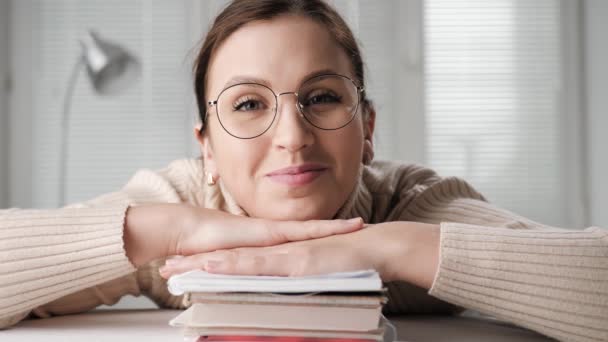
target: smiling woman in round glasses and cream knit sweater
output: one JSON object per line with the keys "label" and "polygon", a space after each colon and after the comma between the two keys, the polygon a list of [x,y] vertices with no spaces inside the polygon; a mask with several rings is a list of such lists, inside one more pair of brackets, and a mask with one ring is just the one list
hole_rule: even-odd
{"label": "smiling woman in round glasses and cream knit sweater", "polygon": [[0,212],[3,327],[126,294],[181,308],[164,278],[190,269],[375,268],[389,312],[471,308],[559,339],[608,339],[608,231],[544,226],[462,180],[372,162],[359,48],[323,2],[232,2],[194,76],[200,160],[139,171],[84,204]]}

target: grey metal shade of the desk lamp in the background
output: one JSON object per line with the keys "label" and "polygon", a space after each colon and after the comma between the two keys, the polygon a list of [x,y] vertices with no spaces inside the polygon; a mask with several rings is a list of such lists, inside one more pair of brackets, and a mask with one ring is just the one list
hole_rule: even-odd
{"label": "grey metal shade of the desk lamp in the background", "polygon": [[89,31],[80,44],[87,74],[98,93],[120,93],[139,76],[139,63],[120,45],[94,31]]}

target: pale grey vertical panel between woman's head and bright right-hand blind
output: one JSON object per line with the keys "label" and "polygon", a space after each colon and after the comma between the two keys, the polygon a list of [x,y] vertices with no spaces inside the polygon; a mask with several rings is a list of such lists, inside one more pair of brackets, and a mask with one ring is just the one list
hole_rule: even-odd
{"label": "pale grey vertical panel between woman's head and bright right-hand blind", "polygon": [[423,162],[421,0],[333,0],[365,63],[376,158]]}

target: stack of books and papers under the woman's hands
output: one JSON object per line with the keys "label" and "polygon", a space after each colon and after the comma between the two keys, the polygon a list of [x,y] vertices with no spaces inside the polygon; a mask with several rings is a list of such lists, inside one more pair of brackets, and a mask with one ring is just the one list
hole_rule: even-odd
{"label": "stack of books and papers under the woman's hands", "polygon": [[307,277],[192,271],[169,279],[189,309],[170,324],[187,341],[382,341],[386,303],[375,271]]}

